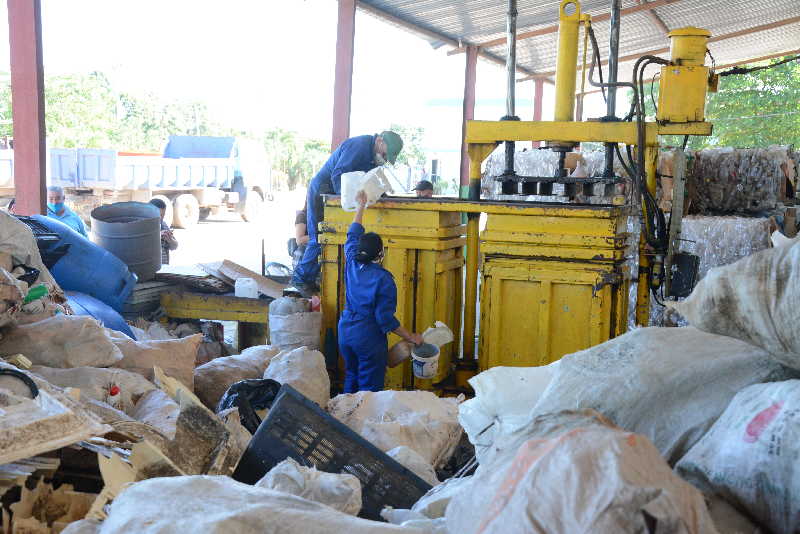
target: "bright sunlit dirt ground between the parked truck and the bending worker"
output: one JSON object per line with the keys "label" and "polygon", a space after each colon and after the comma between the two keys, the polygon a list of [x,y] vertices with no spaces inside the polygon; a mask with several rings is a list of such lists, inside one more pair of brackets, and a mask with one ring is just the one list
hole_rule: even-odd
{"label": "bright sunlit dirt ground between the parked truck and the bending worker", "polygon": [[261,272],[261,240],[266,261],[291,267],[286,242],[294,236],[295,212],[305,199],[305,189],[278,192],[266,202],[259,224],[246,223],[235,213],[211,215],[188,230],[176,229],[178,249],[170,253],[171,266],[189,266],[228,259]]}

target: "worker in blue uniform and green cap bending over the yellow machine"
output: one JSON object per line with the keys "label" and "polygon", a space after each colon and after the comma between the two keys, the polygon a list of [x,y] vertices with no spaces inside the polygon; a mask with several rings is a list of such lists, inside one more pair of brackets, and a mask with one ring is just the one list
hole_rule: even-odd
{"label": "worker in blue uniform and green cap bending over the yellow machine", "polygon": [[306,196],[308,244],[292,279],[292,283],[301,293],[307,295],[319,290],[317,258],[321,248],[317,241],[317,223],[322,220],[322,195],[340,194],[342,174],[346,172],[367,172],[387,161],[394,164],[402,149],[403,140],[395,132],[388,130],[376,135],[351,137],[334,150],[322,169],[311,180]]}

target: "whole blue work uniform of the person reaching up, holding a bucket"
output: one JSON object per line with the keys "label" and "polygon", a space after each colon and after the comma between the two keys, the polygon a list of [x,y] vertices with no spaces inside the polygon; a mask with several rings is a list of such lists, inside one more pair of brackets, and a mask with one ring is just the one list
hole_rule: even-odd
{"label": "whole blue work uniform of the person reaching up, holding a bucket", "polygon": [[356,261],[362,235],[364,227],[354,222],[344,244],[345,308],[339,319],[339,353],[345,361],[345,393],[383,389],[389,356],[386,335],[400,326],[394,316],[397,286],[392,274],[377,263]]}

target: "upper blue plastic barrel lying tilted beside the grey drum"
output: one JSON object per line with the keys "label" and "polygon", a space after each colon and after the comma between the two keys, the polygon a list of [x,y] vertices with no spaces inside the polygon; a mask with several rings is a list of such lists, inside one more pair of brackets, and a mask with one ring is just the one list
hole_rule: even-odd
{"label": "upper blue plastic barrel lying tilted beside the grey drum", "polygon": [[61,237],[52,248],[69,245],[66,255],[50,269],[61,289],[85,293],[122,312],[136,285],[136,275],[128,266],[61,221],[44,215],[34,215],[33,218]]}

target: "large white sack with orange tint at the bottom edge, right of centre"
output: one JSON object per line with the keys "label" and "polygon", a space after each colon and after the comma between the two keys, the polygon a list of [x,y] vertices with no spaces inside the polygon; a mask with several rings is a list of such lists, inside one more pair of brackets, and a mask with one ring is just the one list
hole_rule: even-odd
{"label": "large white sack with orange tint at the bottom edge, right of centre", "polygon": [[650,440],[601,424],[528,439],[481,466],[446,518],[448,532],[459,534],[717,532],[702,494]]}

